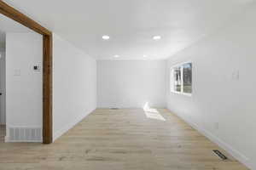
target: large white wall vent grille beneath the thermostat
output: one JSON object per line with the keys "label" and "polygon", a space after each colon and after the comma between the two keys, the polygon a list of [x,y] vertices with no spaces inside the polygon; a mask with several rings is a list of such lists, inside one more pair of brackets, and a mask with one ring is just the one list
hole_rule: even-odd
{"label": "large white wall vent grille beneath the thermostat", "polygon": [[41,127],[9,127],[9,142],[42,142]]}

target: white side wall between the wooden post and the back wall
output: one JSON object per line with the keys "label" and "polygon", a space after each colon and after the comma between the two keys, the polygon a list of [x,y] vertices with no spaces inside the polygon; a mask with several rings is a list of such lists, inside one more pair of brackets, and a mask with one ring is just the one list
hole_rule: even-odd
{"label": "white side wall between the wooden post and the back wall", "polygon": [[96,109],[96,60],[54,34],[54,139]]}

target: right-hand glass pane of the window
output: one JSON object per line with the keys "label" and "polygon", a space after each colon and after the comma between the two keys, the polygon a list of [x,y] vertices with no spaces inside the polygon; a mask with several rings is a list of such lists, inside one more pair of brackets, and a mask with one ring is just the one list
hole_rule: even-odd
{"label": "right-hand glass pane of the window", "polygon": [[192,93],[192,63],[183,65],[183,93]]}

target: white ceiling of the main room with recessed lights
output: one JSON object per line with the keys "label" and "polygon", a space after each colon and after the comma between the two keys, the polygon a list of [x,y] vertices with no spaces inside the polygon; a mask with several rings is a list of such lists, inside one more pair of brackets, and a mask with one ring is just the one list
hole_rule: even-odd
{"label": "white ceiling of the main room with recessed lights", "polygon": [[[96,59],[166,59],[253,0],[5,0]],[[102,41],[102,35],[109,35]],[[152,40],[160,35],[160,41]]]}

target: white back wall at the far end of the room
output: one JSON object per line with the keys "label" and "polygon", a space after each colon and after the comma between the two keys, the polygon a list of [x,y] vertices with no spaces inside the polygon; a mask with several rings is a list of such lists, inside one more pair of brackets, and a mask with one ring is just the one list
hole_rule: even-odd
{"label": "white back wall at the far end of the room", "polygon": [[98,60],[97,106],[166,107],[165,60]]}

